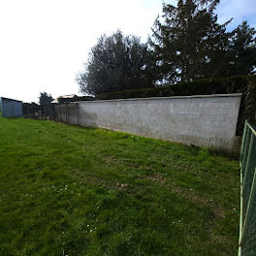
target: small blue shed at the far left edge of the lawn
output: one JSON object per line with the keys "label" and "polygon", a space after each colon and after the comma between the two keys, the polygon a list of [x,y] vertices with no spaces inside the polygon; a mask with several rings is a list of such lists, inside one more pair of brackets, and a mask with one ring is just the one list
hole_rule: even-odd
{"label": "small blue shed at the far left edge of the lawn", "polygon": [[1,97],[0,111],[4,117],[21,117],[23,115],[22,102]]}

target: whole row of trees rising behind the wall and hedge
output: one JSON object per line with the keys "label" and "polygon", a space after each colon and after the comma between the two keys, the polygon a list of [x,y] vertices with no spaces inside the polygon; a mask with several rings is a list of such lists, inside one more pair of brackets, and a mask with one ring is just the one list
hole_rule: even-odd
{"label": "whole row of trees rising behind the wall and hedge", "polygon": [[120,30],[102,35],[76,78],[80,91],[99,93],[180,81],[255,74],[256,30],[243,21],[233,31],[219,24],[219,0],[163,4],[147,43]]}

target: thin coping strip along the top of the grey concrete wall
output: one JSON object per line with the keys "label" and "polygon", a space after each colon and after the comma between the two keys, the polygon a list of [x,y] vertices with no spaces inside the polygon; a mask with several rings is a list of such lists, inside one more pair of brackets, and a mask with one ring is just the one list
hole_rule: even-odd
{"label": "thin coping strip along the top of the grey concrete wall", "polygon": [[225,97],[239,97],[239,98],[241,98],[241,95],[242,95],[242,93],[229,93],[229,94],[209,94],[209,95],[192,95],[192,96],[130,98],[130,99],[113,99],[113,100],[98,100],[98,101],[78,101],[78,102],[70,102],[69,104],[77,104],[77,103],[101,103],[101,102],[121,102],[121,101],[148,101],[148,100],[195,99],[195,98],[225,98]]}

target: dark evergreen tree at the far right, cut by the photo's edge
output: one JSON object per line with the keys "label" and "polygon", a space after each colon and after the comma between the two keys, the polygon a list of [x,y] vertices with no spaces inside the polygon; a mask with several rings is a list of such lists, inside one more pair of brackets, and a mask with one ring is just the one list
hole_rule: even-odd
{"label": "dark evergreen tree at the far right, cut by the photo's edge", "polygon": [[243,21],[232,33],[230,76],[255,74],[256,30]]}

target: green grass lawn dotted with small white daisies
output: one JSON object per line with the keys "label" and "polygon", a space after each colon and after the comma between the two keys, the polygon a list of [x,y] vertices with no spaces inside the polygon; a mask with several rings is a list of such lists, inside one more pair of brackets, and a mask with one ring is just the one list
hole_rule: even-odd
{"label": "green grass lawn dotted with small white daisies", "polygon": [[0,255],[236,255],[240,166],[206,148],[0,117]]}

